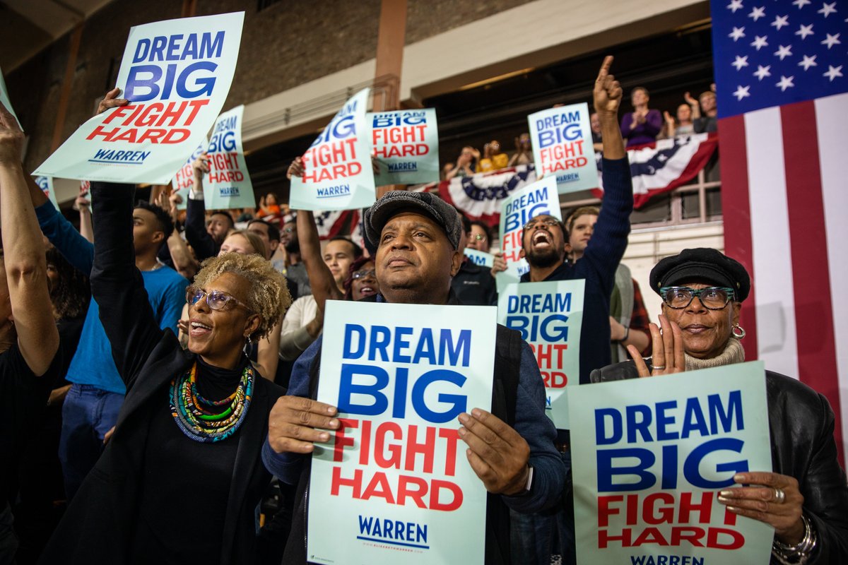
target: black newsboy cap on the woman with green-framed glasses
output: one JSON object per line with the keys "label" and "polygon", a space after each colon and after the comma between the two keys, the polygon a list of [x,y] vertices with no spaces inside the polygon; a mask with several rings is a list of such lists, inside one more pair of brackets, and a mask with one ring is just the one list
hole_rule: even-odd
{"label": "black newsboy cap on the woman with green-framed glasses", "polygon": [[657,294],[663,286],[694,280],[734,289],[736,302],[744,301],[750,292],[750,277],[745,267],[708,247],[683,249],[679,255],[664,258],[650,269],[650,287]]}

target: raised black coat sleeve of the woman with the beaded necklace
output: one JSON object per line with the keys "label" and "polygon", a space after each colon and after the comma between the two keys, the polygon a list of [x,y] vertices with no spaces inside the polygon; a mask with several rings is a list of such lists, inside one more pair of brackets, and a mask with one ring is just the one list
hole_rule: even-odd
{"label": "raised black coat sleeve of the woman with the beaded necklace", "polygon": [[127,388],[162,337],[135,263],[134,191],[132,185],[92,182],[92,203],[98,219],[94,223],[92,297],[100,307],[100,322]]}

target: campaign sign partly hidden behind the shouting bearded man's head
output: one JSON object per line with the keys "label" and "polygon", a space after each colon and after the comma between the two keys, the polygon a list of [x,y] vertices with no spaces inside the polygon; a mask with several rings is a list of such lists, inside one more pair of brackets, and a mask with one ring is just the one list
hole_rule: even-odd
{"label": "campaign sign partly hidden behind the shouting bearded man's head", "polygon": [[498,292],[503,291],[506,285],[518,282],[522,274],[530,270],[530,265],[521,256],[524,224],[543,213],[562,219],[560,197],[553,176],[514,191],[501,202],[500,250],[504,253],[506,270],[495,274]]}

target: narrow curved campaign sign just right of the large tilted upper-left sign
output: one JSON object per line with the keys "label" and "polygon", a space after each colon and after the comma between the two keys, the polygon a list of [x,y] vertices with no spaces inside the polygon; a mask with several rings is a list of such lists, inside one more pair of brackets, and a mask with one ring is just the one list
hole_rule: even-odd
{"label": "narrow curved campaign sign just right of the large tilted upper-left sign", "polygon": [[204,176],[204,196],[208,187],[210,198],[206,207],[210,210],[256,206],[254,185],[242,148],[243,114],[244,106],[220,114],[209,136],[209,173]]}

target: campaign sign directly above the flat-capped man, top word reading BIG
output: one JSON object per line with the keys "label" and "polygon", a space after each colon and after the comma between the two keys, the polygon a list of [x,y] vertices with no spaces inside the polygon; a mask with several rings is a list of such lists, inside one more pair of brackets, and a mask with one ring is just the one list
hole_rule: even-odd
{"label": "campaign sign directly above the flat-capped man, top word reading BIG", "polygon": [[397,110],[368,114],[371,143],[380,174],[377,186],[414,185],[439,180],[436,110]]}

